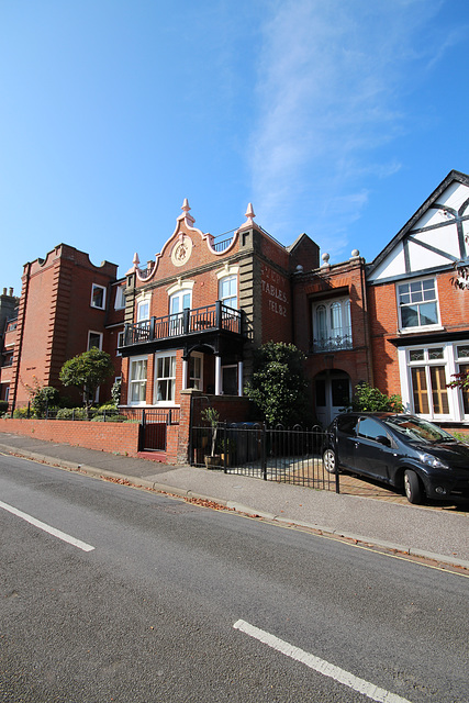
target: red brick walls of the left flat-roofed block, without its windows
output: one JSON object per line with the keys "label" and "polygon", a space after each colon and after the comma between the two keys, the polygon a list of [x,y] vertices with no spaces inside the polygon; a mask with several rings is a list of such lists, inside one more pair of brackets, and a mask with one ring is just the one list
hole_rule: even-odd
{"label": "red brick walls of the left flat-roofed block, without its windows", "polygon": [[[49,252],[44,260],[37,259],[24,267],[15,348],[19,367],[13,367],[12,383],[16,387],[16,406],[27,404],[26,386],[33,386],[35,379],[70,394],[60,386],[58,375],[67,359],[87,350],[89,331],[103,334],[102,348],[111,354],[115,376],[120,375],[116,342],[109,338],[104,327],[107,311],[91,306],[92,283],[102,286],[108,295],[109,283],[115,276],[114,264],[104,261],[94,267],[88,254],[64,244]],[[101,401],[109,397],[111,384],[112,381],[102,388]],[[77,392],[75,398],[79,398]]]}

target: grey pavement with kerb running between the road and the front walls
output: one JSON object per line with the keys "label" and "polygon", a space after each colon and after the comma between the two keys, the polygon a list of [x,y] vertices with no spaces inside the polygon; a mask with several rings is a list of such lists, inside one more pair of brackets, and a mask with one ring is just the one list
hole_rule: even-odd
{"label": "grey pavement with kerb running between the road and the front walls", "polygon": [[11,433],[0,433],[0,453],[469,569],[469,503],[411,505],[384,487],[349,476],[340,477],[336,494]]}

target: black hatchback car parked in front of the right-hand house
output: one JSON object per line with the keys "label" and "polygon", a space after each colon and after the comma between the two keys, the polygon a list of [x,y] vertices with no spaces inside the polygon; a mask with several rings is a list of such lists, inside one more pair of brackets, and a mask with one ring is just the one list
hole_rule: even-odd
{"label": "black hatchback car parked in front of the right-hand house", "polygon": [[337,415],[323,462],[330,473],[343,469],[403,489],[411,503],[469,498],[469,446],[415,415]]}

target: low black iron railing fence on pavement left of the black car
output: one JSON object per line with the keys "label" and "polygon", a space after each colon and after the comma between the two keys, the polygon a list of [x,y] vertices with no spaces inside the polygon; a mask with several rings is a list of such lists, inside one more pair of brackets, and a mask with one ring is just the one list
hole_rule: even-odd
{"label": "low black iron railing fence on pavement left of the black car", "polygon": [[217,423],[193,426],[190,464],[294,486],[339,492],[339,475],[322,460],[324,429],[269,427],[264,423]]}

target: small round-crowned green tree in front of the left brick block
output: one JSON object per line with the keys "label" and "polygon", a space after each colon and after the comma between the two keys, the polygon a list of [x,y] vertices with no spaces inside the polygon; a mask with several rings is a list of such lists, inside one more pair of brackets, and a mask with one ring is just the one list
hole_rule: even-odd
{"label": "small round-crowned green tree in front of the left brick block", "polygon": [[91,405],[98,387],[114,375],[111,357],[105,352],[92,347],[68,359],[60,369],[59,379],[64,386],[76,386],[83,391],[86,405]]}

